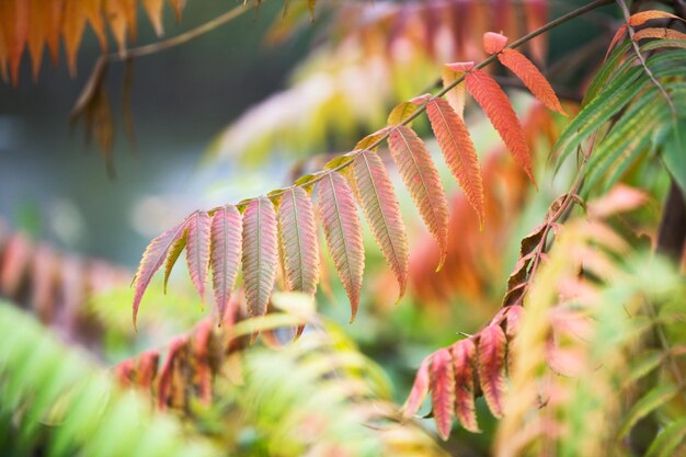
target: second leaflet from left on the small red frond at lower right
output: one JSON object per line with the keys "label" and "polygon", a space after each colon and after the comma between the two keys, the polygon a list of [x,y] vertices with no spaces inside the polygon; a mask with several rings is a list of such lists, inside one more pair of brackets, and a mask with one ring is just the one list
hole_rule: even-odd
{"label": "second leaflet from left on the small red frond at lower right", "polygon": [[447,441],[455,412],[455,373],[453,357],[447,349],[436,351],[432,357],[431,395],[438,435]]}

